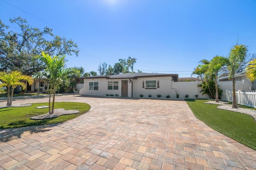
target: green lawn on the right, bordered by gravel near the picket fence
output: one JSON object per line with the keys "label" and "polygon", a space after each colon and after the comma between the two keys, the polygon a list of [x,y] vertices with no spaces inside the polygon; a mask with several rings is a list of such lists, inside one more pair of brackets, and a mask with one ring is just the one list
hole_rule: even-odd
{"label": "green lawn on the right, bordered by gravel near the picket fence", "polygon": [[186,99],[196,118],[212,129],[256,150],[255,119],[250,115],[218,109],[216,104],[204,103],[207,101]]}

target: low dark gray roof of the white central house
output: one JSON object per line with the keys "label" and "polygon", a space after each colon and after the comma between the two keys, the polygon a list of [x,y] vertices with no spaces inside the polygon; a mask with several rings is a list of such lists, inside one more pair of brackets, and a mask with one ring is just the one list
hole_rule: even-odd
{"label": "low dark gray roof of the white central house", "polygon": [[125,73],[125,74],[116,74],[111,76],[90,76],[90,77],[81,77],[82,79],[90,78],[106,78],[106,79],[117,79],[117,78],[132,78],[137,79],[139,77],[172,77],[174,81],[177,81],[178,74],[159,74],[159,73],[146,73],[146,72],[136,72],[136,73]]}

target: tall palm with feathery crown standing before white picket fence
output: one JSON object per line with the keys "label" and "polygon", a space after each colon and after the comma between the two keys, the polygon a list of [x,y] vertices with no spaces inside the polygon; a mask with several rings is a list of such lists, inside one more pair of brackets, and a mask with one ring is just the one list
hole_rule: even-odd
{"label": "tall palm with feathery crown standing before white picket fence", "polygon": [[235,74],[239,69],[239,64],[245,60],[247,54],[247,46],[245,45],[234,45],[230,50],[228,57],[222,57],[223,62],[228,67],[229,78],[232,78],[233,83],[233,97],[232,97],[232,108],[238,108],[236,102],[236,88],[235,88]]}

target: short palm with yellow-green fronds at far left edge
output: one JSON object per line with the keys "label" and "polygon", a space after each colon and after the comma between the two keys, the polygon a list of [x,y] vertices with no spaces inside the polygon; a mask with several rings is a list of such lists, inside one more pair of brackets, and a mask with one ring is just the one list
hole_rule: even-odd
{"label": "short palm with yellow-green fronds at far left edge", "polygon": [[[0,88],[4,86],[7,88],[7,106],[12,106],[14,88],[18,86],[22,86],[22,88],[24,89],[26,88],[26,84],[22,82],[22,80],[27,81],[29,85],[31,85],[34,82],[32,77],[24,75],[20,71],[12,71],[9,74],[2,71],[0,72],[0,80],[2,82],[2,84],[0,84]],[[11,97],[10,87],[12,87]]]}

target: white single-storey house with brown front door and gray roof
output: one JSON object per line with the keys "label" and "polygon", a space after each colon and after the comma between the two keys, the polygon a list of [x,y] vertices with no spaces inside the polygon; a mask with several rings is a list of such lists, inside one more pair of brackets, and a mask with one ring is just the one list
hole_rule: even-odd
{"label": "white single-storey house with brown front door and gray roof", "polygon": [[178,81],[178,74],[126,73],[111,76],[90,76],[84,79],[80,95],[144,97],[157,94],[176,96],[172,82]]}

